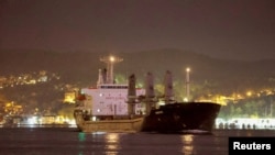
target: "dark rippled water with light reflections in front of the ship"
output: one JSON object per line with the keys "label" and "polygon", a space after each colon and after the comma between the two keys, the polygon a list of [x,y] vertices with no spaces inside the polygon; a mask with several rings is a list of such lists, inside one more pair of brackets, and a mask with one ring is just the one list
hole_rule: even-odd
{"label": "dark rippled water with light reflections in front of the ship", "polygon": [[0,129],[1,155],[228,155],[229,136],[274,136],[272,130],[212,134],[81,133],[72,128]]}

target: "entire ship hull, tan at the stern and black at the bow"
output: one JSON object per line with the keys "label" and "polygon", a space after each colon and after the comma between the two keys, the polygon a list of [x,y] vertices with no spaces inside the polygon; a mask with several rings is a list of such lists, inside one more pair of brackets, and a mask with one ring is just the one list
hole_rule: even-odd
{"label": "entire ship hull, tan at the stern and black at the bow", "polygon": [[211,132],[220,107],[211,102],[173,103],[153,109],[144,117],[99,121],[85,120],[81,111],[75,111],[75,119],[82,132]]}

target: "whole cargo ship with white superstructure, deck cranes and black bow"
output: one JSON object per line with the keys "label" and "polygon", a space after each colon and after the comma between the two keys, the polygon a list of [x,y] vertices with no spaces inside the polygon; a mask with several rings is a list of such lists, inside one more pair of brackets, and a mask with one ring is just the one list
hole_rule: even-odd
{"label": "whole cargo ship with white superstructure, deck cranes and black bow", "polygon": [[136,87],[135,75],[128,84],[116,84],[113,65],[122,58],[100,58],[107,69],[99,69],[97,86],[82,88],[76,96],[74,117],[81,132],[211,132],[220,104],[215,102],[177,102],[173,77],[165,74],[164,96],[156,97],[154,78],[147,73],[145,88]]}

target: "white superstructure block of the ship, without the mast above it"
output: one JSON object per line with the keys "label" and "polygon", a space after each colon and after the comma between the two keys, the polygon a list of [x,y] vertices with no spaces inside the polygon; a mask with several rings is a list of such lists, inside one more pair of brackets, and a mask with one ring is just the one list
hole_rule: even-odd
{"label": "white superstructure block of the ship, without the mast above it", "polygon": [[[92,115],[127,115],[128,85],[99,85],[98,88],[84,88],[85,106]],[[136,89],[136,96],[144,95],[143,89]],[[140,103],[135,112],[142,111]]]}

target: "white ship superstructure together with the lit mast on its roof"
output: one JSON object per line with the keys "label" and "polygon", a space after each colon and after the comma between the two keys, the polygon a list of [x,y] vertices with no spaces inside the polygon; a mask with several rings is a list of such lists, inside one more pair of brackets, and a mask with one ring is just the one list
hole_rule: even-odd
{"label": "white ship superstructure together with the lit mast on its roof", "polygon": [[[105,115],[128,115],[129,114],[129,85],[116,84],[113,81],[113,64],[122,59],[118,57],[101,58],[101,62],[107,63],[108,69],[99,69],[97,87],[82,88],[81,95],[85,95],[85,100],[79,109],[86,111],[87,114],[94,117]],[[110,73],[109,73],[110,71]],[[145,95],[144,89],[135,89],[136,97]],[[134,113],[144,112],[141,103],[134,103]]]}

